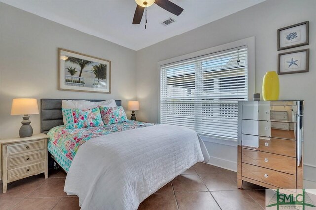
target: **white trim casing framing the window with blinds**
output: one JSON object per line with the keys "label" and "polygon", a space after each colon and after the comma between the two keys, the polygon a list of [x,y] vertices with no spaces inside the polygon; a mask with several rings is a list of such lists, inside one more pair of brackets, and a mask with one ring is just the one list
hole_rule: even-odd
{"label": "white trim casing framing the window with blinds", "polygon": [[158,116],[157,116],[158,123],[160,123],[160,85],[161,85],[160,84],[160,66],[161,65],[174,63],[177,61],[186,60],[190,58],[195,58],[198,56],[207,55],[211,53],[216,53],[216,52],[220,52],[223,50],[232,49],[232,48],[236,48],[236,47],[240,47],[244,45],[247,45],[247,48],[248,48],[248,99],[249,100],[252,99],[252,94],[255,93],[255,37],[254,36],[241,39],[238,41],[234,41],[231,43],[207,48],[207,49],[200,50],[197,52],[192,52],[189,54],[177,56],[175,58],[159,61],[157,63],[158,85],[159,85],[158,87]]}

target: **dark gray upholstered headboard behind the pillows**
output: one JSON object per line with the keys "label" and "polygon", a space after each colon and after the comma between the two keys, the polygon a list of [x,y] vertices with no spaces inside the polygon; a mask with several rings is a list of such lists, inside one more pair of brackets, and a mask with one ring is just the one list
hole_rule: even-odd
{"label": "dark gray upholstered headboard behind the pillows", "polygon": [[[47,134],[47,132],[55,126],[64,125],[63,115],[61,112],[61,101],[63,99],[40,99],[41,104],[41,120],[40,131]],[[68,100],[68,99],[65,99]],[[71,99],[71,100],[83,100],[83,99]],[[104,100],[91,100],[91,102],[99,102]],[[117,106],[122,105],[121,100],[115,100]]]}

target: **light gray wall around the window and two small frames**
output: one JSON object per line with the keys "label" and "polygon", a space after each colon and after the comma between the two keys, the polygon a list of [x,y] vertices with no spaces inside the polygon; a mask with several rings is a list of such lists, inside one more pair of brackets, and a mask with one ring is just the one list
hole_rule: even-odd
{"label": "light gray wall around the window and two small frames", "polygon": [[[141,105],[138,119],[158,121],[159,61],[251,36],[255,36],[255,92],[261,93],[266,71],[277,71],[277,55],[280,52],[277,51],[276,30],[306,20],[310,21],[310,44],[280,52],[310,48],[310,72],[280,75],[279,99],[305,100],[304,179],[308,186],[315,184],[316,187],[316,1],[265,1],[137,51],[136,88]],[[231,168],[237,168],[236,147],[209,142],[206,146],[214,157],[212,163],[221,159],[226,161],[227,167],[235,162],[236,167]]]}

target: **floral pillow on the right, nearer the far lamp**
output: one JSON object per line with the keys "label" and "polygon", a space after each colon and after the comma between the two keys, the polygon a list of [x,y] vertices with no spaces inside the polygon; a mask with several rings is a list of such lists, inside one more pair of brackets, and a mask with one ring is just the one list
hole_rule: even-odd
{"label": "floral pillow on the right, nearer the far lamp", "polygon": [[126,114],[122,106],[102,107],[100,106],[101,116],[105,125],[126,122]]}

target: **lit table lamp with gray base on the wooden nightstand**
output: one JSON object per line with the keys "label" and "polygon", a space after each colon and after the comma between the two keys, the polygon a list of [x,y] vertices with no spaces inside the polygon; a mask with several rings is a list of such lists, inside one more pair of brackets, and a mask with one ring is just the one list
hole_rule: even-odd
{"label": "lit table lamp with gray base on the wooden nightstand", "polygon": [[38,102],[36,99],[13,99],[11,115],[24,115],[22,126],[19,130],[20,137],[30,137],[33,134],[29,114],[39,114]]}

